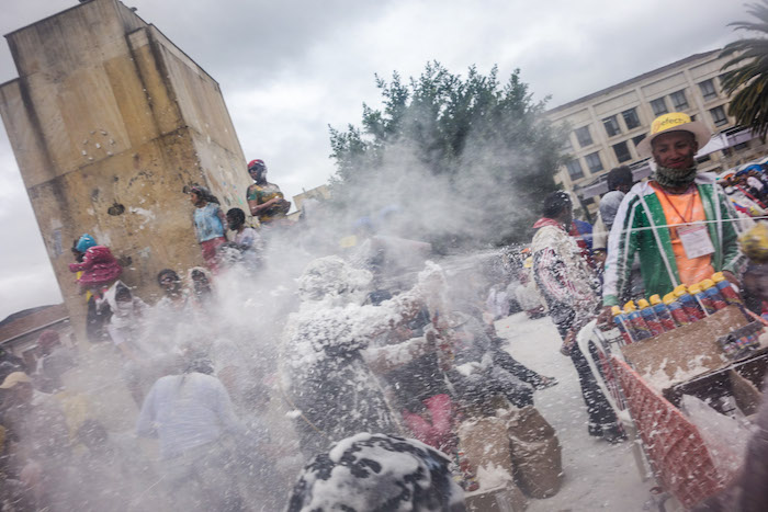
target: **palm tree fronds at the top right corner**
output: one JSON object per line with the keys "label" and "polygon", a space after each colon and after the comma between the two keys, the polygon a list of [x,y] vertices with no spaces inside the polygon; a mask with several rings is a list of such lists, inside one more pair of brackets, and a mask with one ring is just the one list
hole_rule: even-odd
{"label": "palm tree fronds at the top right corner", "polygon": [[734,30],[756,33],[730,43],[720,57],[731,57],[723,70],[722,87],[731,95],[729,114],[765,139],[768,133],[768,2],[747,5],[756,21],[731,23]]}

